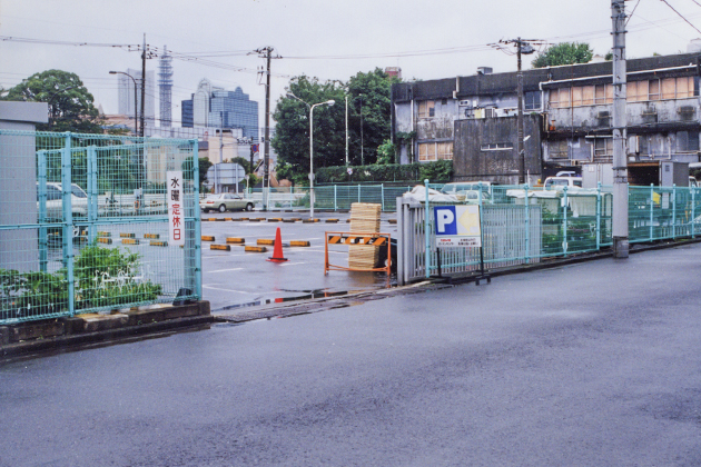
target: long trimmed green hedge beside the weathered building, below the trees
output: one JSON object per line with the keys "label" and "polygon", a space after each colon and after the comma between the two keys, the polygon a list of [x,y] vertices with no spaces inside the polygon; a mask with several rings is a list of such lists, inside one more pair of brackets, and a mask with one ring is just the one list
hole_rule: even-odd
{"label": "long trimmed green hedge beside the weathered building, below the trees", "polygon": [[353,173],[348,175],[348,167],[323,167],[316,170],[316,183],[342,183],[363,181],[416,181],[428,179],[432,183],[450,181],[453,177],[453,161],[438,160],[425,163],[388,163],[375,166],[350,167]]}

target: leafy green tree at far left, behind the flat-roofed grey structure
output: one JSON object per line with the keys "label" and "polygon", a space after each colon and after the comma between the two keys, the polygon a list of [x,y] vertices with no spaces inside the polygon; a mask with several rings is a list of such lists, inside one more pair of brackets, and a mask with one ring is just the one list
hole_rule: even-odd
{"label": "leafy green tree at far left, behind the flat-roofed grey structure", "polygon": [[10,88],[2,99],[48,102],[49,123],[38,125],[40,131],[102,132],[95,98],[76,73],[47,70],[32,74]]}

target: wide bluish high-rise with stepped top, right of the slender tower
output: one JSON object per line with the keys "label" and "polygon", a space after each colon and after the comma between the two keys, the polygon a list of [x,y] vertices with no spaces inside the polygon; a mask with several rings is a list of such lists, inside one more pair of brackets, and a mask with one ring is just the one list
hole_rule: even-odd
{"label": "wide bluish high-rise with stepped top, right of the slender tower", "polygon": [[184,127],[240,128],[244,137],[258,139],[258,102],[241,88],[227,91],[203,79],[181,111]]}

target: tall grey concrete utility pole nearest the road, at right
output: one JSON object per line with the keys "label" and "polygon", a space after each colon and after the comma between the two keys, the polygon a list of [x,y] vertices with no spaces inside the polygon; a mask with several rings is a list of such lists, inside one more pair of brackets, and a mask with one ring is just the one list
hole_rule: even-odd
{"label": "tall grey concrete utility pole nearest the road, at right", "polygon": [[628,258],[628,163],[625,160],[625,3],[611,0],[613,21],[613,257]]}

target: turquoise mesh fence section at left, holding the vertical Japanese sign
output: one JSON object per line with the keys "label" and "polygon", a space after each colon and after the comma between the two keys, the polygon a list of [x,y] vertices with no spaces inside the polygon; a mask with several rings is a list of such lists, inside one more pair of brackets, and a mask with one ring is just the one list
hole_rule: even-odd
{"label": "turquoise mesh fence section at left, holding the vertical Japanese sign", "polygon": [[196,140],[0,130],[0,324],[201,297]]}

